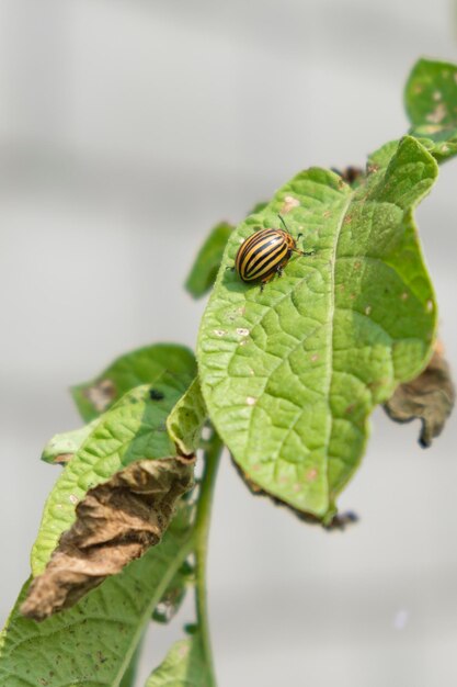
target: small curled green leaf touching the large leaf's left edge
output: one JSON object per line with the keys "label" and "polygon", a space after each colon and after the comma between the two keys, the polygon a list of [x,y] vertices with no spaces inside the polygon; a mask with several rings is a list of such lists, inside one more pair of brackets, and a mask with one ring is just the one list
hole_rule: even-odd
{"label": "small curled green leaf touching the large leaf's left edge", "polygon": [[167,419],[167,429],[180,453],[195,453],[207,416],[199,382],[195,379]]}

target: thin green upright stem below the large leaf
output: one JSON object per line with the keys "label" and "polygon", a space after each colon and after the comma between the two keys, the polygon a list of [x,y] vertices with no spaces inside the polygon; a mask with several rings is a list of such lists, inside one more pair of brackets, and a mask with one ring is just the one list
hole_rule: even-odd
{"label": "thin green upright stem below the large leaf", "polygon": [[208,551],[208,534],[214,485],[216,482],[216,474],[219,466],[219,459],[222,452],[222,442],[215,432],[212,437],[208,448],[205,451],[205,470],[201,483],[201,494],[198,498],[197,515],[195,520],[195,602],[199,638],[202,642],[202,651],[203,655],[205,656],[209,677],[208,687],[216,687],[216,678],[214,676],[214,662],[209,635],[206,598],[206,556]]}

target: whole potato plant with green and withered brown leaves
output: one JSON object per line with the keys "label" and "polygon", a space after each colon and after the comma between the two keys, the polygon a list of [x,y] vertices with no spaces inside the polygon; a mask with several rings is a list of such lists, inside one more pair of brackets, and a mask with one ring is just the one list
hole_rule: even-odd
{"label": "whole potato plant with green and withered brown leaves", "polygon": [[[454,390],[414,210],[457,153],[457,66],[420,60],[405,109],[409,133],[365,169],[301,171],[210,232],[186,281],[210,292],[195,354],[155,344],[73,387],[84,425],[43,451],[62,470],[1,634],[0,687],[133,687],[145,629],[186,592],[194,623],[146,687],[214,687],[205,561],[224,447],[254,493],[331,529],[353,519],[338,497],[377,405],[420,418],[424,447],[439,433]],[[244,282],[243,240],[283,225],[306,255]]]}

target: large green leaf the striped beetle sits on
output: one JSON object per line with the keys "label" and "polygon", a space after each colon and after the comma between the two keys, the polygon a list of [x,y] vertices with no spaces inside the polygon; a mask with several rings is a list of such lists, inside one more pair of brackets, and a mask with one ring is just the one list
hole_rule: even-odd
{"label": "large green leaf the striped beetle sits on", "polygon": [[[328,521],[356,470],[367,417],[426,364],[436,308],[412,210],[437,174],[414,138],[351,189],[301,172],[231,235],[198,337],[203,396],[248,480]],[[240,244],[286,215],[311,257],[262,291],[232,267]]]}

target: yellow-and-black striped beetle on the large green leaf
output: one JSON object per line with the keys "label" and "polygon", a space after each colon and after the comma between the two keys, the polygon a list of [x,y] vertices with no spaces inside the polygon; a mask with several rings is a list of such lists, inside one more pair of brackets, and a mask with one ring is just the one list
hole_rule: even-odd
{"label": "yellow-and-black striped beetle on the large green leaf", "polygon": [[235,269],[245,282],[260,281],[261,289],[275,274],[282,274],[293,252],[301,256],[311,255],[297,248],[297,243],[287,230],[286,224],[278,215],[285,229],[260,229],[247,238],[238,249]]}

